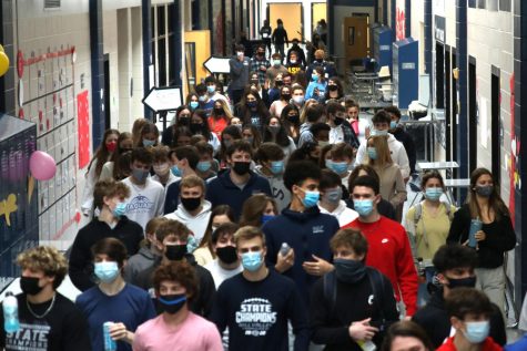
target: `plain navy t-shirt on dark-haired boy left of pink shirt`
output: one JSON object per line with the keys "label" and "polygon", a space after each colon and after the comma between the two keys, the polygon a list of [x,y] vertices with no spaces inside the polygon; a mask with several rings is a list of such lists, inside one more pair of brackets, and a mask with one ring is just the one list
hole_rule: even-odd
{"label": "plain navy t-shirt on dark-haired boy left of pink shirt", "polygon": [[[104,350],[104,322],[121,322],[134,332],[140,324],[156,316],[149,293],[129,283],[115,296],[108,296],[95,286],[78,296],[75,303],[88,319],[92,350],[97,351]],[[132,351],[132,345],[118,341],[118,351]]]}

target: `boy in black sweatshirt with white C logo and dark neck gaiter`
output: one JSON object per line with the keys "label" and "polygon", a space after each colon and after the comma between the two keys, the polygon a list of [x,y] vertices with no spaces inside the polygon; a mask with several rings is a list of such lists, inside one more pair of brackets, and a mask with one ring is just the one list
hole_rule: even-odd
{"label": "boy in black sweatshirt with white C logo and dark neck gaiter", "polygon": [[388,278],[366,267],[368,242],[356,229],[341,229],[331,239],[335,269],[311,290],[312,340],[327,351],[372,350],[398,320]]}

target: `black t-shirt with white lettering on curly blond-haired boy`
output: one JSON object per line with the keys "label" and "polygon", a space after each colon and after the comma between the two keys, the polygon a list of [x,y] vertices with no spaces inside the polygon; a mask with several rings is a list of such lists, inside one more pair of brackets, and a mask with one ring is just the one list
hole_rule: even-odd
{"label": "black t-shirt with white lettering on curly blond-haired boy", "polygon": [[[6,351],[91,351],[88,323],[77,306],[57,292],[50,312],[43,318],[34,317],[28,309],[26,295],[17,296],[20,330],[6,334],[3,313],[0,313],[0,349]],[[41,316],[51,306],[30,303],[33,313]],[[101,327],[102,328],[102,327]]]}

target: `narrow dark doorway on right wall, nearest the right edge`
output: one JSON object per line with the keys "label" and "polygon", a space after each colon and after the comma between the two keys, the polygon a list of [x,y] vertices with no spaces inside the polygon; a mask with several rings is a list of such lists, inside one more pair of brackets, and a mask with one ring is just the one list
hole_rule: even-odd
{"label": "narrow dark doorway on right wall, nearest the right edge", "polygon": [[496,66],[491,66],[491,79],[490,79],[490,137],[491,137],[491,171],[494,177],[494,184],[500,184],[501,178],[501,152],[500,152],[500,141],[501,141],[501,127],[500,127],[500,117],[499,117],[499,76],[500,71]]}

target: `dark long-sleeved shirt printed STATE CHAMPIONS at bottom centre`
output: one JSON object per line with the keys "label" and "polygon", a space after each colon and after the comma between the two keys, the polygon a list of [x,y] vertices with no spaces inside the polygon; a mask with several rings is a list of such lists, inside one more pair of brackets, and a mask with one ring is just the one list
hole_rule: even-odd
{"label": "dark long-sleeved shirt printed STATE CHAMPIONS at bottom centre", "polygon": [[287,320],[295,333],[294,350],[307,350],[310,331],[303,299],[294,283],[270,270],[249,281],[239,273],[220,286],[212,309],[220,331],[229,327],[229,350],[287,351]]}

